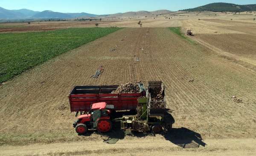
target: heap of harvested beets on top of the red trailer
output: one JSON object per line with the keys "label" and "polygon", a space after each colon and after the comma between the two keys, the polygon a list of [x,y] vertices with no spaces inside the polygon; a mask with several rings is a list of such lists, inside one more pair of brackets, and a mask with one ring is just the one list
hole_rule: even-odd
{"label": "heap of harvested beets on top of the red trailer", "polygon": [[139,93],[140,87],[134,83],[126,83],[120,85],[115,91],[112,91],[113,94],[120,94],[120,93]]}

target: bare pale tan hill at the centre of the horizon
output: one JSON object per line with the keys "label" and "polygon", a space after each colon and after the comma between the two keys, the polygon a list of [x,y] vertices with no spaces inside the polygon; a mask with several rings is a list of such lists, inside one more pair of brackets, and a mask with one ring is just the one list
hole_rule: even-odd
{"label": "bare pale tan hill at the centre of the horizon", "polygon": [[173,11],[169,10],[157,10],[157,11],[130,11],[125,13],[117,13],[117,14],[110,14],[107,17],[143,17],[143,16],[152,16],[152,15],[159,15],[159,14],[167,14]]}

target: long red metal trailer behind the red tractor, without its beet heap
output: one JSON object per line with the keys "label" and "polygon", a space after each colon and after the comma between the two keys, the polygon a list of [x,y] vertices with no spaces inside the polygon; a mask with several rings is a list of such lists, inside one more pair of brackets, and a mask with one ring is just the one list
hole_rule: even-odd
{"label": "long red metal trailer behind the red tractor, without its beet heap", "polygon": [[94,103],[106,102],[114,105],[114,110],[135,110],[138,105],[137,99],[145,96],[145,88],[142,83],[138,84],[140,93],[112,94],[118,85],[102,86],[75,86],[69,94],[71,112],[88,112]]}

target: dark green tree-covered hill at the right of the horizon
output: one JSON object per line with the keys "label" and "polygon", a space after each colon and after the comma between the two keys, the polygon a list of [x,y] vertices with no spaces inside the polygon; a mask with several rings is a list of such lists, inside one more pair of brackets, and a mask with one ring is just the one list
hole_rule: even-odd
{"label": "dark green tree-covered hill at the right of the horizon", "polygon": [[256,11],[256,4],[249,5],[237,5],[232,3],[211,3],[205,6],[199,6],[193,9],[185,9],[181,11],[231,11],[231,12],[242,12],[242,11]]}

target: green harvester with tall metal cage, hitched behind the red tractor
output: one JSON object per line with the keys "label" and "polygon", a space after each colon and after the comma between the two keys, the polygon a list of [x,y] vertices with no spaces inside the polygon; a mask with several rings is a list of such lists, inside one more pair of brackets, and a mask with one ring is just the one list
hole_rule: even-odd
{"label": "green harvester with tall metal cage, hitched behind the red tractor", "polygon": [[148,82],[146,97],[138,99],[137,115],[116,119],[121,121],[122,129],[160,133],[163,129],[172,128],[172,119],[166,111],[165,86],[163,82]]}

